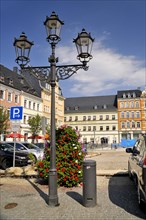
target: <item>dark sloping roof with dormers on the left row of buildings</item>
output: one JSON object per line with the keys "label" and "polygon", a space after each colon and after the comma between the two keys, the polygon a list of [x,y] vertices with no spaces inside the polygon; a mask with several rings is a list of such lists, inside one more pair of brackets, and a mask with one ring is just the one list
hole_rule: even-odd
{"label": "dark sloping roof with dormers on the left row of buildings", "polygon": [[24,91],[34,96],[40,97],[38,91],[34,88],[34,83],[29,83],[26,77],[15,71],[0,65],[0,83],[19,91]]}

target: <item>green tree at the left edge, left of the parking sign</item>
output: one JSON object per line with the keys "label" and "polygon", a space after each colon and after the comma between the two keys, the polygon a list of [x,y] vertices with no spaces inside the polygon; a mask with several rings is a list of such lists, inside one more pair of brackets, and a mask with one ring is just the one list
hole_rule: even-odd
{"label": "green tree at the left edge, left of the parking sign", "polygon": [[0,134],[6,134],[9,128],[9,112],[4,109],[3,106],[0,107]]}

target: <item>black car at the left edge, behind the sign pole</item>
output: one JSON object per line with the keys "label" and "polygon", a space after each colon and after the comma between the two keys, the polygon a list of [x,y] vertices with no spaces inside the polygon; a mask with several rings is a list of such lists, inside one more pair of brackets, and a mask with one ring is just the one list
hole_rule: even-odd
{"label": "black car at the left edge, behind the sign pole", "polygon": [[[15,166],[27,166],[28,163],[28,153],[15,152]],[[3,142],[0,142],[0,166],[2,169],[13,166],[13,147]]]}

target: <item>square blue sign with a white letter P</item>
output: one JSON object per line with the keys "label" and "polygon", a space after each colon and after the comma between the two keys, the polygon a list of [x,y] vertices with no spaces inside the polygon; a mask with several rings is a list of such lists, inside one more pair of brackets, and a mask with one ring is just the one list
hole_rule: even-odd
{"label": "square blue sign with a white letter P", "polygon": [[14,106],[10,108],[10,120],[22,120],[23,117],[23,107]]}

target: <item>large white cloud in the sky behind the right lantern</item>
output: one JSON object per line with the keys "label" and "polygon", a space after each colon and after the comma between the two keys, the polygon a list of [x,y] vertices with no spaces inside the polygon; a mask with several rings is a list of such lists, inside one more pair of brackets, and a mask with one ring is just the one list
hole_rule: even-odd
{"label": "large white cloud in the sky behind the right lantern", "polygon": [[[77,63],[75,48],[60,47],[57,54],[61,63]],[[116,94],[117,90],[144,86],[145,74],[146,68],[142,61],[134,56],[124,56],[113,49],[105,48],[102,41],[99,41],[94,43],[89,70],[79,70],[72,76],[68,92],[71,96]]]}

